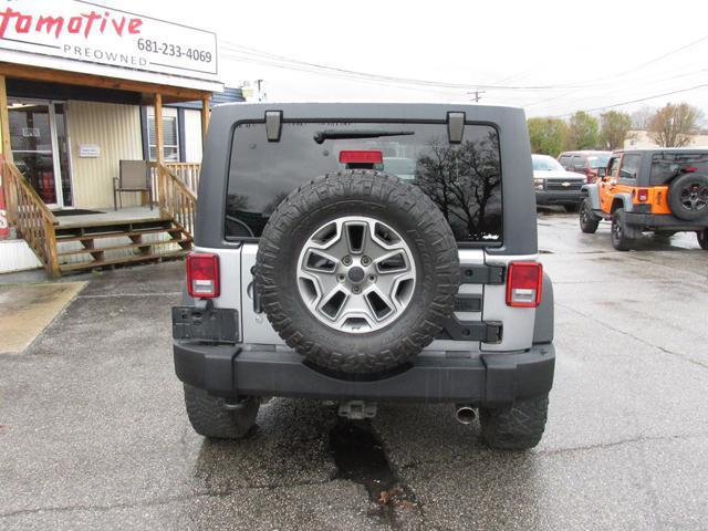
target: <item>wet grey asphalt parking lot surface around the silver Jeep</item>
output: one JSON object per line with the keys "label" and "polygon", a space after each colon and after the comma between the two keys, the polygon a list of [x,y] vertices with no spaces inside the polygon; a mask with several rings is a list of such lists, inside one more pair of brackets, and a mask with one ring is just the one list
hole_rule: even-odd
{"label": "wet grey asphalt parking lot surface around the silver Jeep", "polygon": [[539,233],[558,364],[534,450],[486,449],[449,405],[360,427],[289,399],[206,441],[171,364],[183,266],[123,269],[0,356],[0,529],[706,529],[708,253],[620,253],[574,215]]}

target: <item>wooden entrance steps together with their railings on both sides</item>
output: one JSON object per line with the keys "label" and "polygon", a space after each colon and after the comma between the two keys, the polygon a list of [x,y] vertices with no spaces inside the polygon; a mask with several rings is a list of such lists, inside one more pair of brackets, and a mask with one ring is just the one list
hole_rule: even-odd
{"label": "wooden entrance steps together with their railings on both sides", "polygon": [[[53,277],[183,257],[192,248],[197,196],[191,186],[197,170],[181,165],[175,174],[163,164],[149,164],[158,190],[153,209],[54,216],[14,164],[2,160],[8,218]],[[187,177],[190,183],[183,180]]]}

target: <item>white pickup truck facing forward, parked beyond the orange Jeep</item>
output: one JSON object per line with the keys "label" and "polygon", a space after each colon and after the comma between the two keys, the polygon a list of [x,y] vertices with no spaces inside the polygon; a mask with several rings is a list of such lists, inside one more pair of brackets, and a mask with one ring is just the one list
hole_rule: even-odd
{"label": "white pickup truck facing forward, parked beyond the orange Jeep", "polygon": [[583,199],[585,176],[563,169],[549,155],[531,155],[537,205],[562,205],[575,210]]}

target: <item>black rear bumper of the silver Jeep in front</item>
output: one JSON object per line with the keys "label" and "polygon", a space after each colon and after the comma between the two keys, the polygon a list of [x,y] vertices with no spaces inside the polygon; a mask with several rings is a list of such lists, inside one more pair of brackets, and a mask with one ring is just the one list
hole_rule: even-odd
{"label": "black rear bumper of the silver Jeep in front", "polygon": [[[216,395],[285,396],[372,402],[511,404],[551,389],[553,344],[513,353],[420,353],[409,368],[376,381],[332,377],[290,350],[175,342],[180,381]],[[460,355],[464,354],[464,357]]]}

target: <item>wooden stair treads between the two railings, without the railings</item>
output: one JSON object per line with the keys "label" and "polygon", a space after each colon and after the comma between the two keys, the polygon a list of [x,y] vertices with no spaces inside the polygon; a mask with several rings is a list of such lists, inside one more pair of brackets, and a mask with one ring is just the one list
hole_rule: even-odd
{"label": "wooden stair treads between the two railings, without the railings", "polygon": [[186,256],[191,236],[173,218],[54,227],[60,272],[69,273]]}

